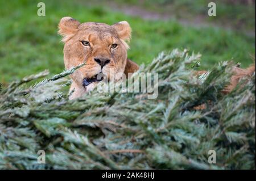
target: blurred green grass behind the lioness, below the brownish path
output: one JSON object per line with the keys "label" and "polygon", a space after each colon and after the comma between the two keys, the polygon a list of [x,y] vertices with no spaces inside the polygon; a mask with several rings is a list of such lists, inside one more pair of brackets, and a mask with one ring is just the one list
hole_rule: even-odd
{"label": "blurred green grass behind the lioness, below the brownish path", "polygon": [[255,54],[255,37],[235,31],[184,27],[175,20],[143,20],[80,1],[44,1],[46,16],[38,16],[38,2],[0,1],[0,82],[4,84],[44,69],[52,74],[64,69],[63,44],[57,35],[63,16],[108,24],[127,20],[133,29],[128,57],[138,64],[148,64],[162,50],[174,48],[202,53],[201,69],[222,60],[245,67],[252,62],[250,54]]}

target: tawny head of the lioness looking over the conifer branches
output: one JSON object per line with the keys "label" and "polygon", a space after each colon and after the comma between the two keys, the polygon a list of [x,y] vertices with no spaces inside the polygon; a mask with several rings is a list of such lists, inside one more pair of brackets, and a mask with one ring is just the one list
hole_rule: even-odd
{"label": "tawny head of the lioness looking over the conifer branches", "polygon": [[[64,17],[59,23],[59,33],[64,42],[64,64],[66,69],[85,62],[82,68],[71,75],[74,87],[88,89],[95,84],[97,75],[110,78],[111,73],[133,73],[138,65],[127,60],[126,41],[130,40],[131,28],[123,21],[112,26],[104,23],[80,23]],[[110,71],[110,69],[112,69]]]}

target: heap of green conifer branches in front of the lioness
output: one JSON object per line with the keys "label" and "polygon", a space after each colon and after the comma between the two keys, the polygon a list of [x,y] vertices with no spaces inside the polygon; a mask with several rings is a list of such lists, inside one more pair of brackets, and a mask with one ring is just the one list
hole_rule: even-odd
{"label": "heap of green conifer branches in front of the lioness", "polygon": [[94,90],[68,100],[65,76],[82,65],[29,88],[48,71],[2,87],[0,169],[255,169],[255,74],[223,94],[233,64],[196,77],[199,60],[175,49],[142,66],[131,78],[158,73],[157,99]]}

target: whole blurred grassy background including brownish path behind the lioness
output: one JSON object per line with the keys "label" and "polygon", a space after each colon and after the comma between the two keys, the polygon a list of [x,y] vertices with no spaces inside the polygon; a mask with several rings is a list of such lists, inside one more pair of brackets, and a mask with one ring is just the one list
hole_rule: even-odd
{"label": "whole blurred grassy background including brownish path behind the lioness", "polygon": [[[39,2],[46,16],[38,16]],[[208,16],[215,2],[217,16]],[[63,16],[80,22],[114,24],[126,20],[133,29],[128,57],[148,64],[158,53],[188,48],[201,53],[201,68],[233,60],[246,67],[255,61],[255,0],[0,0],[0,82],[49,69],[64,69],[57,24]]]}

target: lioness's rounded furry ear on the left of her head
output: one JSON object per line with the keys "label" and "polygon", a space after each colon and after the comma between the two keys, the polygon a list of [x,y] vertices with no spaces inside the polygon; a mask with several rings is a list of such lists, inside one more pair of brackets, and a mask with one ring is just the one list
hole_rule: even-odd
{"label": "lioness's rounded furry ear on the left of her head", "polygon": [[62,41],[70,39],[78,30],[80,22],[71,17],[61,18],[59,23],[59,34],[63,36]]}

